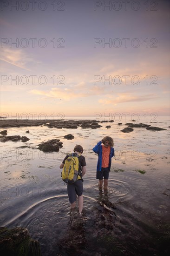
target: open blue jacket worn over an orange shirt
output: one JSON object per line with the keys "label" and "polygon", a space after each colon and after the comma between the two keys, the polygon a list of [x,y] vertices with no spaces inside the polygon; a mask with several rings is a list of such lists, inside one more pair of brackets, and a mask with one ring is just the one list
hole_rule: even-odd
{"label": "open blue jacket worn over an orange shirt", "polygon": [[[96,154],[98,154],[98,164],[97,171],[101,171],[102,169],[102,141],[99,141],[98,144],[92,149]],[[114,148],[111,147],[111,152],[109,155],[109,172],[111,169],[111,157],[115,154]]]}

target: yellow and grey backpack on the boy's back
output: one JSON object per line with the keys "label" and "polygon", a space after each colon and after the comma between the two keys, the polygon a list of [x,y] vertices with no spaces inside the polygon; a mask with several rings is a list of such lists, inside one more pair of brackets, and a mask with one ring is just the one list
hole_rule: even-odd
{"label": "yellow and grey backpack on the boy's back", "polygon": [[76,156],[73,156],[72,153],[69,154],[69,157],[65,160],[63,171],[61,173],[64,182],[72,184],[76,182],[78,179],[81,179],[80,174],[78,172],[79,156],[80,155],[78,154]]}

